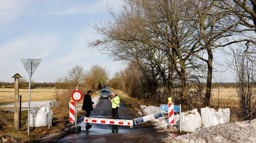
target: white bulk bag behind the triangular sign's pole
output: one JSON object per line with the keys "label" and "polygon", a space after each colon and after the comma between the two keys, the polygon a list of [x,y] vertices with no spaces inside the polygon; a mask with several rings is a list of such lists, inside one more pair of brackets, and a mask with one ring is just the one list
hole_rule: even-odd
{"label": "white bulk bag behind the triangular sign's pole", "polygon": [[[53,111],[51,110],[50,126],[52,126]],[[35,108],[30,111],[29,127],[37,128],[42,126],[48,126],[49,121],[49,108],[42,107],[38,110]]]}

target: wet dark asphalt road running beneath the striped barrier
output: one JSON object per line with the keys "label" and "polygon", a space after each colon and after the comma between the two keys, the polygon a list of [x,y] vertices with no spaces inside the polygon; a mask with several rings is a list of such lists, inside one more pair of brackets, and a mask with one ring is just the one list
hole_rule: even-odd
{"label": "wet dark asphalt road running beneath the striped barrier", "polygon": [[[120,102],[120,108],[118,110],[119,119],[134,119],[136,118],[125,105]],[[77,116],[79,117],[79,116]],[[100,99],[96,109],[91,112],[91,117],[95,118],[111,118],[111,102],[108,99]],[[85,130],[85,123],[83,117],[80,117],[78,124],[81,126],[81,132],[70,133],[66,132],[58,139],[52,139],[54,143],[159,143],[162,138],[167,137],[165,133],[156,132],[152,126],[146,124],[133,124],[133,128],[130,126],[117,126],[108,124],[93,124],[92,128]]]}

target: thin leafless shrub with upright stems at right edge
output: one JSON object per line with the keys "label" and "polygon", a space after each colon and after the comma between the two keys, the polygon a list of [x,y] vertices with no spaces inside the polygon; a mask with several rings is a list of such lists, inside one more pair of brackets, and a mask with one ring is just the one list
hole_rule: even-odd
{"label": "thin leafless shrub with upright stems at right edge", "polygon": [[[254,45],[255,47],[255,45]],[[244,120],[252,120],[256,114],[256,57],[255,53],[231,49],[233,58],[228,63],[235,72],[237,94]]]}

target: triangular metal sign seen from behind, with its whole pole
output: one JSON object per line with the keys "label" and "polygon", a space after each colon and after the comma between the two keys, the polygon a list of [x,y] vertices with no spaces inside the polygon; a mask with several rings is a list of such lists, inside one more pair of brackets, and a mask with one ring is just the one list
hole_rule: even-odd
{"label": "triangular metal sign seen from behind, with its whole pole", "polygon": [[31,86],[31,76],[34,74],[36,68],[42,61],[42,59],[32,59],[32,58],[22,58],[20,59],[23,66],[28,72],[29,75],[29,86],[28,86],[28,134],[29,134],[29,115],[30,115],[30,86]]}

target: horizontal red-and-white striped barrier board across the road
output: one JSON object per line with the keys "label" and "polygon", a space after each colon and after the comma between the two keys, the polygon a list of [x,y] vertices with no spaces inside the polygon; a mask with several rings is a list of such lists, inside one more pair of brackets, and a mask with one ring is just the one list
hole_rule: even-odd
{"label": "horizontal red-and-white striped barrier board across the road", "polygon": [[98,123],[98,124],[110,124],[110,125],[127,125],[132,128],[133,120],[119,120],[119,119],[104,119],[104,118],[86,118],[85,123]]}

